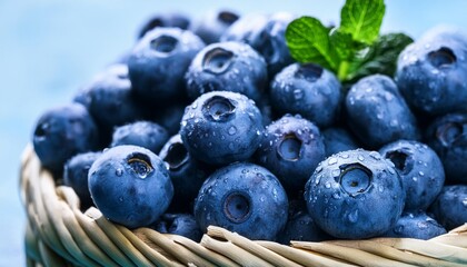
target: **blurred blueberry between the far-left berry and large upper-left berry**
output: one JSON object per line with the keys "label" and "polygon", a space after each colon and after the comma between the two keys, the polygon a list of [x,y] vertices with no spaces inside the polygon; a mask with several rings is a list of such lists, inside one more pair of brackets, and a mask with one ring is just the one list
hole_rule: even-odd
{"label": "blurred blueberry between the far-left berry and large upper-left berry", "polygon": [[[132,122],[143,117],[131,89],[126,65],[112,65],[99,73],[74,96],[73,101],[87,107],[102,132],[110,137],[113,127]],[[103,140],[108,146],[110,140]]]}

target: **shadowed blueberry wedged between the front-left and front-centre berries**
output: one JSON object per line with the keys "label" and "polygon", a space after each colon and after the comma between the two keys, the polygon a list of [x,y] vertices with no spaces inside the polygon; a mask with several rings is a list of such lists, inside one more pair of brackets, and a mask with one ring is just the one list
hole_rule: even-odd
{"label": "shadowed blueberry wedged between the front-left and front-centre berries", "polygon": [[173,185],[171,212],[191,212],[195,198],[212,168],[191,157],[180,135],[172,136],[160,150],[159,157],[169,165]]}

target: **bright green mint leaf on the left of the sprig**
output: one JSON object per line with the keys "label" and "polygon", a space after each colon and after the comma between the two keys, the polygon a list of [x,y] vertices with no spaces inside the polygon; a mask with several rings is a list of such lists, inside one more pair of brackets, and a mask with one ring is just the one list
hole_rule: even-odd
{"label": "bright green mint leaf on the left of the sprig", "polygon": [[290,55],[298,62],[314,62],[336,70],[338,58],[329,41],[329,29],[311,17],[301,17],[290,22],[286,30]]}

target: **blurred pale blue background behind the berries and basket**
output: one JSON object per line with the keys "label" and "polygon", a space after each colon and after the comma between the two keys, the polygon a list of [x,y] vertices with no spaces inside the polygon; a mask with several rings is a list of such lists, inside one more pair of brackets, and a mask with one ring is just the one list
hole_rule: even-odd
{"label": "blurred pale blue background behind the berries and basket", "polygon": [[[24,266],[26,215],[20,204],[20,155],[46,109],[69,101],[99,70],[135,44],[153,13],[180,11],[192,19],[208,10],[289,11],[339,22],[342,0],[36,0],[0,1],[0,266]],[[467,31],[465,0],[387,0],[382,32],[418,38],[450,23]]]}

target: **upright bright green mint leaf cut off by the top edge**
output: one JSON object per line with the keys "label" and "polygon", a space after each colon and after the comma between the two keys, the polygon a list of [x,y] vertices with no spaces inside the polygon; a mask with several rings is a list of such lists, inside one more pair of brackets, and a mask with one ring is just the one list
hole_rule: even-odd
{"label": "upright bright green mint leaf cut off by the top edge", "polygon": [[385,9],[384,0],[347,0],[340,11],[339,30],[370,44],[378,37]]}

